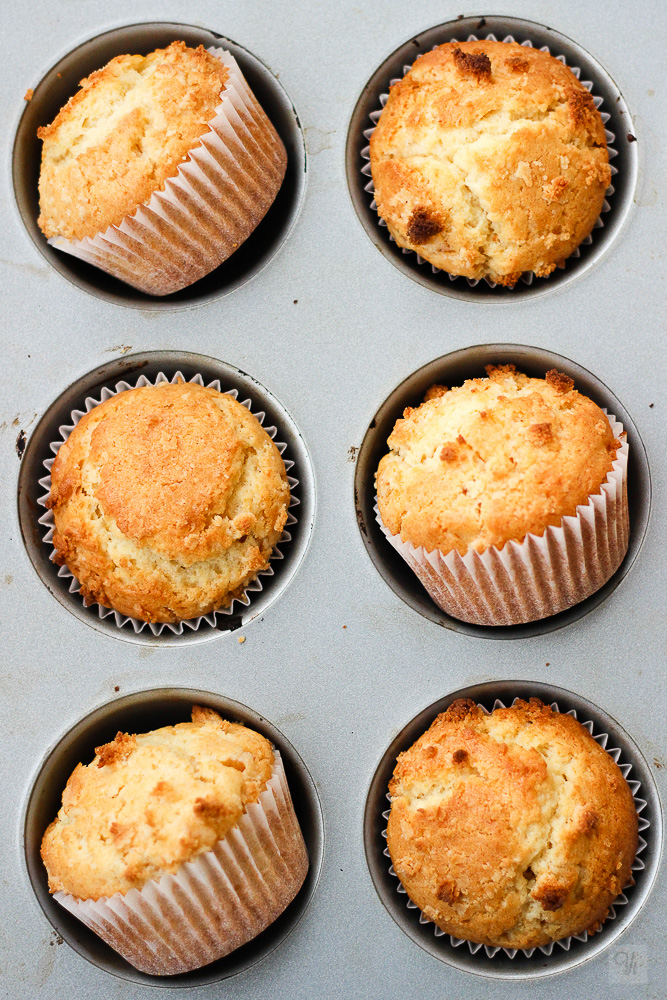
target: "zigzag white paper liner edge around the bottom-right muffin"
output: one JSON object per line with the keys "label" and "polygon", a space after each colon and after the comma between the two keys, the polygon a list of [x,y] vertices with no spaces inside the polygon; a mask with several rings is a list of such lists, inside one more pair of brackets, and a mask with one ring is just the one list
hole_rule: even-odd
{"label": "zigzag white paper liner edge around the bottom-right muffin", "polygon": [[[514,701],[512,702],[512,704],[513,705],[516,704],[516,702],[519,701],[519,700],[520,700],[519,698],[515,698]],[[487,715],[490,715],[489,710],[484,705],[482,705],[479,702],[477,704],[479,705],[479,707],[482,709],[483,712],[485,712]],[[495,710],[497,708],[506,708],[506,707],[507,706],[505,705],[505,703],[503,701],[500,700],[500,698],[496,698],[496,700],[493,703],[492,711],[495,712]],[[554,712],[560,712],[560,708],[558,707],[558,702],[552,701],[550,707],[553,709]],[[571,715],[574,719],[577,718],[577,712],[576,712],[576,709],[574,709],[574,708],[571,708],[570,711],[566,712],[565,714],[566,715]],[[651,826],[651,823],[650,823],[649,820],[644,819],[642,817],[642,815],[641,815],[642,812],[644,811],[644,809],[646,809],[646,805],[647,805],[646,799],[642,799],[640,797],[640,795],[639,795],[639,791],[640,791],[640,788],[641,788],[641,781],[635,781],[635,780],[631,780],[631,779],[628,778],[628,775],[630,774],[630,772],[632,770],[632,764],[621,762],[620,759],[621,759],[622,754],[623,754],[623,750],[622,750],[621,747],[612,747],[611,749],[608,748],[608,746],[607,746],[607,744],[609,742],[609,734],[608,733],[595,733],[594,732],[595,725],[590,720],[588,722],[582,722],[582,726],[584,727],[584,729],[588,730],[588,732],[591,734],[591,736],[596,741],[596,743],[599,743],[600,746],[602,747],[602,749],[606,750],[607,753],[609,754],[609,756],[618,764],[619,769],[620,769],[623,777],[628,782],[628,786],[630,788],[630,791],[632,792],[632,797],[633,797],[634,803],[635,803],[635,809],[636,809],[636,812],[637,812],[638,830],[639,830],[639,837],[638,837],[638,841],[637,841],[637,853],[635,855],[635,860],[632,863],[631,870],[632,870],[632,872],[643,871],[643,869],[646,867],[646,865],[644,864],[644,862],[642,861],[642,859],[639,857],[639,855],[642,853],[642,851],[645,850],[647,842],[646,842],[646,840],[644,840],[644,838],[641,836],[641,834],[644,833],[646,830],[649,829],[649,827]],[[387,792],[387,799],[389,800],[389,802],[391,802],[391,795],[389,794],[389,792]],[[384,820],[388,820],[389,819],[389,813],[390,813],[390,811],[391,811],[390,809],[387,809],[385,812],[382,813],[382,818]],[[386,828],[386,826],[382,830],[381,836],[384,838],[384,840],[387,839],[387,828]],[[385,855],[385,857],[391,859],[391,855],[389,854],[389,848],[388,847],[385,847],[382,853]],[[393,875],[394,878],[398,879],[398,885],[396,887],[396,891],[399,892],[399,893],[401,893],[401,895],[407,896],[407,891],[403,888],[403,885],[401,884],[401,881],[398,878],[398,875],[396,874],[396,872],[394,870],[394,866],[392,864],[389,865],[388,871],[389,871],[390,875]],[[625,885],[623,887],[623,890],[628,889],[628,888],[630,888],[633,885],[634,885],[634,877],[631,876],[631,881],[627,885]],[[625,906],[628,902],[629,902],[629,900],[628,900],[628,897],[625,895],[625,891],[620,892],[619,895],[614,900],[614,902],[612,903],[612,905],[611,905],[611,907],[609,909],[609,913],[608,913],[607,917],[605,918],[603,926],[606,926],[606,924],[608,924],[609,921],[616,919],[616,916],[617,916],[617,914],[616,914],[616,908],[617,907],[619,907],[619,906]],[[409,899],[409,898],[408,898],[408,901],[407,901],[406,905],[407,905],[407,908],[409,910],[417,910],[418,909],[417,904],[413,903],[412,900]],[[432,921],[429,920],[427,917],[425,917],[424,914],[420,911],[420,913],[419,913],[419,923],[420,924],[430,924],[430,923],[432,923]],[[447,934],[445,931],[441,930],[441,928],[438,927],[437,924],[433,924],[433,931],[434,931],[435,937],[448,937],[449,938],[449,943],[452,945],[453,948],[459,948],[462,944],[467,944],[468,945],[468,950],[470,951],[471,955],[476,955],[477,952],[481,948],[484,948],[484,951],[485,951],[485,953],[487,955],[487,958],[493,958],[494,955],[497,955],[499,951],[503,951],[507,955],[508,958],[515,958],[516,955],[518,955],[518,954],[522,954],[522,955],[525,955],[526,958],[530,958],[531,955],[533,955],[535,951],[540,951],[540,952],[542,952],[543,955],[551,955],[551,953],[553,952],[553,949],[554,949],[554,945],[556,945],[556,944],[560,948],[562,948],[563,951],[569,951],[570,948],[572,947],[572,942],[573,941],[582,941],[582,942],[585,942],[585,941],[588,941],[588,937],[589,937],[588,931],[583,931],[583,933],[581,933],[581,934],[574,934],[574,935],[571,935],[570,937],[560,938],[560,939],[558,939],[556,941],[550,941],[549,944],[540,945],[538,948],[521,948],[521,949],[519,949],[519,948],[499,948],[499,947],[494,947],[494,946],[488,945],[488,944],[482,945],[482,944],[480,944],[477,941],[468,941],[466,938],[456,938],[452,934]]]}

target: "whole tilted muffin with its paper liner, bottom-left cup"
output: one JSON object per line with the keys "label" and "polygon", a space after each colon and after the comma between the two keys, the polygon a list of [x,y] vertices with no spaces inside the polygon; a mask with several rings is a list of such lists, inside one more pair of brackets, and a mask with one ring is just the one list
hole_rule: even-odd
{"label": "whole tilted muffin with its paper liner, bottom-left cup", "polygon": [[78,764],[42,859],[58,902],[153,975],[255,937],[308,869],[279,755],[196,706],[192,722],[118,733]]}

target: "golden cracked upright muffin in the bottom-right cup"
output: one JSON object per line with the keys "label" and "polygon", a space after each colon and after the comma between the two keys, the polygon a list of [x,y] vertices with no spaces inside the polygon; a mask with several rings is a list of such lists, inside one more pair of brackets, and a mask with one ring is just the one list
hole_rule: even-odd
{"label": "golden cracked upright muffin in the bottom-right cup", "polygon": [[594,933],[631,882],[632,793],[569,715],[532,698],[455,701],[400,754],[387,844],[410,899],[447,934],[534,948]]}

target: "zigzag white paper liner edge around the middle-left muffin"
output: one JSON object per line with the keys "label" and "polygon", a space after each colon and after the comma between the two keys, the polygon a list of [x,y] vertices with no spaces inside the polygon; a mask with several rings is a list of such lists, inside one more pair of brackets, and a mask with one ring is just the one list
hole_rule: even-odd
{"label": "zigzag white paper liner edge around the middle-left muffin", "polygon": [[[153,382],[149,381],[149,379],[147,379],[145,375],[140,375],[133,385],[130,385],[129,382],[121,381],[116,383],[114,389],[108,389],[105,386],[104,389],[102,389],[99,399],[93,399],[92,396],[87,396],[84,402],[85,409],[72,410],[70,415],[71,422],[69,424],[61,424],[60,427],[58,428],[58,431],[60,433],[60,438],[57,441],[51,441],[49,444],[49,447],[53,452],[54,458],[47,458],[43,462],[44,468],[47,470],[47,475],[39,480],[39,485],[46,490],[46,493],[44,493],[43,496],[38,497],[37,503],[39,504],[39,506],[46,507],[46,501],[48,500],[49,494],[51,492],[51,467],[53,466],[55,456],[58,454],[62,445],[65,443],[65,441],[70,436],[70,434],[72,433],[78,422],[81,420],[83,416],[85,416],[86,413],[89,413],[91,410],[93,410],[96,406],[99,406],[101,403],[105,403],[107,399],[111,399],[112,396],[115,396],[120,392],[127,392],[128,389],[139,388],[140,386],[146,386],[146,385],[161,385],[164,382],[177,383],[185,381],[186,380],[180,371],[177,371],[172,376],[171,379],[167,378],[167,376],[163,372],[159,372]],[[206,385],[206,388],[208,389],[216,389],[218,392],[222,392],[219,379],[215,379],[213,382],[204,383],[204,379],[202,378],[202,376],[197,374],[194,375],[191,379],[188,379],[187,381],[193,382],[196,385],[202,385],[202,386]],[[225,395],[232,396],[233,399],[238,399],[238,389],[227,389],[225,390]],[[264,420],[266,419],[266,414],[264,413],[263,410],[259,411],[253,410],[252,400],[250,398],[241,400],[241,405],[245,406],[246,409],[249,410],[253,414],[253,416],[259,421],[259,423],[262,426],[264,426]],[[278,428],[272,425],[270,427],[264,427],[264,430],[273,440],[280,454],[283,455],[285,450],[287,449],[287,443],[285,441],[275,440],[276,435],[278,434]],[[287,472],[289,472],[290,469],[294,467],[294,462],[292,462],[289,458],[283,458],[283,462],[285,465],[285,470]],[[276,545],[274,546],[273,552],[271,553],[271,556],[269,558],[269,563],[276,562],[280,559],[285,558],[284,552],[281,550],[281,547],[284,547],[285,545],[287,545],[289,542],[292,541],[292,535],[291,532],[289,531],[289,528],[297,523],[297,519],[292,513],[292,510],[293,508],[298,507],[299,504],[301,503],[299,498],[294,495],[294,490],[298,487],[299,480],[296,479],[294,476],[288,475],[287,482],[290,488],[290,500],[288,504],[289,509],[287,512],[287,521],[285,522],[285,530],[283,531],[282,535],[280,536],[280,538],[276,542]],[[56,550],[53,547],[53,533],[55,530],[55,521],[53,519],[53,512],[47,509],[46,513],[42,514],[42,516],[39,518],[38,523],[41,524],[46,529],[46,533],[44,534],[42,541],[46,545],[49,545],[52,548],[52,552],[49,555],[49,559],[51,560],[51,562],[54,562]],[[97,610],[100,618],[108,618],[110,615],[113,615],[116,621],[116,625],[119,628],[123,628],[123,626],[127,625],[129,622],[137,634],[141,632],[143,629],[149,628],[153,633],[153,635],[161,635],[165,629],[168,629],[175,635],[182,635],[185,627],[192,629],[193,631],[200,628],[203,624],[211,625],[215,628],[217,624],[216,615],[234,614],[235,613],[234,605],[237,602],[243,605],[243,607],[247,608],[252,600],[252,594],[259,593],[264,589],[261,577],[269,577],[274,575],[275,574],[273,567],[269,565],[266,569],[260,570],[255,579],[252,580],[245,588],[241,596],[235,597],[228,607],[217,608],[215,611],[211,611],[210,614],[208,615],[200,615],[198,618],[185,618],[182,621],[178,622],[144,622],[141,621],[141,619],[139,618],[130,618],[127,615],[123,615],[121,614],[120,611],[115,611],[113,608],[106,608],[102,604],[97,605]],[[71,573],[71,571],[67,568],[67,566],[61,566],[58,569],[58,576],[70,580],[70,585],[69,585],[70,594],[76,594],[80,592],[79,581]],[[89,604],[84,600],[83,597],[81,598],[81,600],[83,602],[84,607],[90,607],[91,604],[93,603],[91,602]]]}

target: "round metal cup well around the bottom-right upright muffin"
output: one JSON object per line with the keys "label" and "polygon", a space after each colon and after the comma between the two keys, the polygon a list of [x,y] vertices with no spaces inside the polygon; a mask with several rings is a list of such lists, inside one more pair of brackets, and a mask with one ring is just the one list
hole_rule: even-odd
{"label": "round metal cup well around the bottom-right upright muffin", "polygon": [[[632,790],[639,819],[639,847],[632,866],[634,885],[617,897],[600,931],[586,932],[528,951],[490,948],[444,934],[409,900],[391,866],[386,847],[389,780],[396,758],[424,733],[457,698],[470,698],[491,712],[516,698],[540,698],[578,718],[616,760]],[[599,955],[630,925],[657,875],[662,851],[662,812],[655,781],[639,748],[611,716],[580,695],[538,681],[497,681],[463,688],[429,705],[396,736],[373,776],[364,814],[366,860],[375,889],[401,930],[433,957],[465,972],[495,979],[538,979],[573,969]]]}

